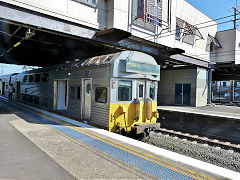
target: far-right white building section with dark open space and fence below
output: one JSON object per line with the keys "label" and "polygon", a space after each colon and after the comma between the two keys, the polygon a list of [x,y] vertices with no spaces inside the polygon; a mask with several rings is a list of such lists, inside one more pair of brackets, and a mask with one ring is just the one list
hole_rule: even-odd
{"label": "far-right white building section with dark open space and fence below", "polygon": [[214,61],[213,101],[240,105],[240,31],[237,28],[219,31],[216,35],[221,48],[211,52]]}

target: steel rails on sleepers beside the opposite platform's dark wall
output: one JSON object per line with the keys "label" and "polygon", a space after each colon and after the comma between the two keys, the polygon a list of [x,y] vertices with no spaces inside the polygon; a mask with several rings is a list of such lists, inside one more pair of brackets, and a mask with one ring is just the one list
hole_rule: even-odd
{"label": "steel rails on sleepers beside the opposite platform's dark wall", "polygon": [[162,133],[169,136],[174,136],[176,138],[182,139],[183,141],[191,141],[193,144],[201,143],[204,146],[215,146],[216,149],[222,148],[229,151],[240,152],[240,143],[233,143],[230,141],[223,141],[222,139],[217,139],[216,137],[204,137],[202,135],[192,135],[189,133],[183,133],[180,131],[169,130],[161,128],[157,133]]}

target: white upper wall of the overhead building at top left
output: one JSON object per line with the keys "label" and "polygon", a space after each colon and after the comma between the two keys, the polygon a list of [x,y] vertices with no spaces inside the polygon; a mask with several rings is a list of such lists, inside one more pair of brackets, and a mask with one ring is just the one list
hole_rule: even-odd
{"label": "white upper wall of the overhead building at top left", "polygon": [[98,0],[96,6],[83,2],[76,2],[77,0],[2,1],[96,29],[104,29],[107,27],[105,0]]}

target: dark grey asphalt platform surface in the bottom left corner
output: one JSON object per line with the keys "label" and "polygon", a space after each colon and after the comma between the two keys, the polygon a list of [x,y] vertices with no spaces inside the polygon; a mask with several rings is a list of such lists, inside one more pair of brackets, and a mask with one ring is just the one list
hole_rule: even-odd
{"label": "dark grey asphalt platform surface in the bottom left corner", "polygon": [[15,113],[0,102],[0,179],[75,179],[11,125]]}

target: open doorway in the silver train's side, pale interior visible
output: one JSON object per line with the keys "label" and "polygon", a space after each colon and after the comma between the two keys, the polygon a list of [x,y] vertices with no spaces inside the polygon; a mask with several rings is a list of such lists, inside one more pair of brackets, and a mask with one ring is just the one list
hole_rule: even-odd
{"label": "open doorway in the silver train's side, pale interior visible", "polygon": [[66,110],[67,109],[67,96],[68,86],[67,80],[55,80],[55,96],[54,96],[54,109],[55,110]]}

